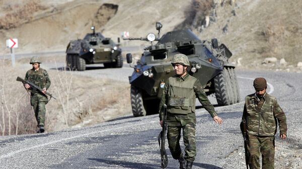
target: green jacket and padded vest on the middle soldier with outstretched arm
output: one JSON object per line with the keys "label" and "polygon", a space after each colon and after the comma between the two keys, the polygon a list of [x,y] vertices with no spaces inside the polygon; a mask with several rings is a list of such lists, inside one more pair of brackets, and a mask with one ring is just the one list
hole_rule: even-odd
{"label": "green jacket and padded vest on the middle soldier with outstretched arm", "polygon": [[164,116],[164,104],[167,104],[168,112],[171,114],[187,115],[192,112],[195,113],[196,97],[212,117],[217,115],[198,79],[189,74],[184,77],[178,75],[170,77],[165,84],[160,102],[160,120]]}

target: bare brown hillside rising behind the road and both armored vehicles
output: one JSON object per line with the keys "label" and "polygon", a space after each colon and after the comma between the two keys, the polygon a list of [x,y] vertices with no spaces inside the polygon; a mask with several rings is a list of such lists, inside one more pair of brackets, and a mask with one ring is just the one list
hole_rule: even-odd
{"label": "bare brown hillside rising behind the road and both armored vehicles", "polygon": [[[210,1],[192,2],[204,5]],[[163,35],[165,32],[184,28],[184,23],[192,20],[190,13],[196,7],[196,3],[192,2],[33,0],[13,3],[2,0],[2,25],[6,22],[13,24],[7,24],[7,29],[0,30],[1,53],[9,53],[5,48],[5,40],[10,37],[19,40],[17,53],[63,51],[69,40],[83,38],[90,32],[92,25],[96,26],[97,31],[116,41],[124,31],[128,31],[131,37],[156,33],[155,22],[159,21],[163,24]],[[200,27],[190,27],[201,39],[218,38],[233,52],[231,61],[236,64],[240,62],[239,68],[300,72],[297,63],[302,62],[299,55],[302,50],[299,43],[302,39],[302,4],[298,0],[233,0],[231,5],[226,0],[213,2],[216,4],[209,7],[214,9],[208,10],[212,15],[209,26],[202,31]],[[141,41],[122,41],[122,45],[147,44]],[[278,61],[262,64],[267,57],[276,57]],[[279,60],[282,58],[287,63],[280,65]]]}

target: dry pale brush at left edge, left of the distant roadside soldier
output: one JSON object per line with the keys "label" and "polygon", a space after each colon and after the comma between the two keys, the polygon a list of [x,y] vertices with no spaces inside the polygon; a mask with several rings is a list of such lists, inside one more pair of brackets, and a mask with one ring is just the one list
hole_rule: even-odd
{"label": "dry pale brush at left edge, left of the distant roadside soldier", "polygon": [[[11,63],[1,60],[0,66],[0,133],[1,135],[35,133],[37,122],[29,96],[21,82],[20,72]],[[22,75],[25,73],[23,72]]]}

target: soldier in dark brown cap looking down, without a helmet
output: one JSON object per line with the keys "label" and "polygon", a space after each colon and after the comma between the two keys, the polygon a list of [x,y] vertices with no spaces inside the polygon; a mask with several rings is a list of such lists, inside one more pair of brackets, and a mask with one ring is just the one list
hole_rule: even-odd
{"label": "soldier in dark brown cap looking down, without a helmet", "polygon": [[[255,93],[245,97],[242,116],[246,120],[249,152],[249,166],[260,169],[259,156],[262,154],[262,168],[274,168],[275,137],[277,123],[281,139],[286,138],[286,117],[276,97],[266,93],[267,83],[264,78],[254,80]],[[260,152],[259,152],[260,149]]]}

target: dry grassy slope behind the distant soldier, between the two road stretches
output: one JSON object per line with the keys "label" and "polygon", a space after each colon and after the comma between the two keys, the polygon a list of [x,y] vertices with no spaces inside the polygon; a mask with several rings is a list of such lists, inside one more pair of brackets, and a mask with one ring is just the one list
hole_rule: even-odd
{"label": "dry grassy slope behind the distant soldier, between the two road stretches", "polygon": [[[31,65],[28,66],[30,69]],[[16,81],[17,76],[23,77],[26,70],[11,67],[10,60],[1,60],[1,135],[29,134],[37,131],[30,95],[22,83]],[[131,113],[128,99],[130,96],[127,92],[129,84],[126,82],[74,77],[72,72],[64,68],[49,70],[48,74],[51,79],[48,92],[57,100],[52,98],[46,105],[46,131],[61,130],[79,124],[91,125]]]}

